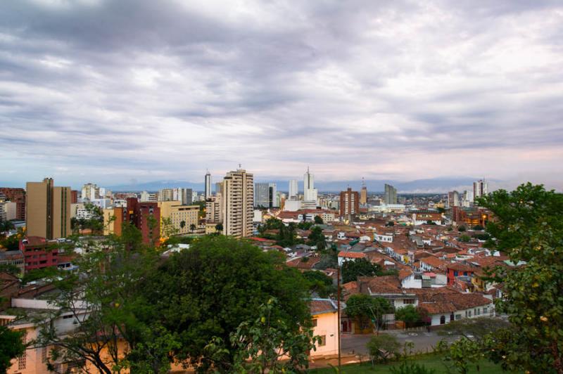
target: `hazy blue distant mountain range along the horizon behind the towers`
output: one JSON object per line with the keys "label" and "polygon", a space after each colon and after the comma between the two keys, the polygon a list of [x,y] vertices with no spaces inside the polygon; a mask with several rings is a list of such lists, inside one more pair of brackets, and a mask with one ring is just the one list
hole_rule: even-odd
{"label": "hazy blue distant mountain range along the horizon behind the towers", "polygon": [[[463,190],[471,188],[472,183],[479,178],[471,177],[452,177],[452,178],[433,178],[417,179],[415,181],[390,181],[390,180],[367,180],[365,185],[370,193],[384,191],[385,183],[397,188],[399,193],[445,193],[453,189]],[[277,184],[278,191],[288,191],[289,180],[267,181],[256,179],[257,182],[272,182]],[[299,188],[303,191],[303,181],[299,181]],[[165,180],[144,183],[129,183],[119,186],[108,186],[111,191],[158,191],[162,188],[192,188],[194,191],[203,191],[203,182],[194,183],[189,181]],[[315,188],[321,192],[339,192],[346,188],[353,188],[359,191],[362,188],[362,181],[315,181]],[[213,181],[215,189],[215,181]]]}

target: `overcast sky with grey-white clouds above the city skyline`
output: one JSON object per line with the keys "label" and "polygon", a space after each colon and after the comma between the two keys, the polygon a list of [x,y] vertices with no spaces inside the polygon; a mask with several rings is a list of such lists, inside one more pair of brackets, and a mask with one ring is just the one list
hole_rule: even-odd
{"label": "overcast sky with grey-white clouds above the city skyline", "polygon": [[0,184],[563,188],[563,3],[3,0]]}

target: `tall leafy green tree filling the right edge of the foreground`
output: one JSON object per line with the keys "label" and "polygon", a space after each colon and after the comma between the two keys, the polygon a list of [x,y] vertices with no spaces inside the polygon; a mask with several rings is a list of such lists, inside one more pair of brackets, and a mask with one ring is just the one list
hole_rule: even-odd
{"label": "tall leafy green tree filling the right edge of the foreground", "polygon": [[510,328],[493,334],[489,354],[510,370],[563,373],[563,195],[526,183],[512,192],[495,191],[479,206],[493,213],[488,247],[514,264],[498,267],[489,280],[502,281],[500,313]]}

